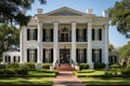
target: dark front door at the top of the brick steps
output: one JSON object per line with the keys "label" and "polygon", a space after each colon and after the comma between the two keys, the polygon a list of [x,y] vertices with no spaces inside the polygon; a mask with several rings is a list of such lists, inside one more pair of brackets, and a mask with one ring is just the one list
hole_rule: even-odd
{"label": "dark front door at the top of the brick steps", "polygon": [[69,63],[69,49],[64,48],[60,49],[60,62],[61,63]]}

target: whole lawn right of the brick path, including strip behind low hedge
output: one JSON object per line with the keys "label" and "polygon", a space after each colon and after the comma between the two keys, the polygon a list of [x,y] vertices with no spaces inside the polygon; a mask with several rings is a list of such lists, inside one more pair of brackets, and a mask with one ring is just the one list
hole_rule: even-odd
{"label": "whole lawn right of the brick path, including strip behind low hedge", "polygon": [[117,75],[105,75],[104,70],[81,70],[74,72],[82,83],[87,85],[130,85],[130,77]]}

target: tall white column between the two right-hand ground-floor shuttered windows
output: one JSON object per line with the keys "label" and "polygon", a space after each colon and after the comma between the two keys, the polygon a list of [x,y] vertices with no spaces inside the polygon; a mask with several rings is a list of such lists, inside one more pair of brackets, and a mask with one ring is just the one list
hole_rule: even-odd
{"label": "tall white column between the two right-hand ground-floor shuttered windows", "polygon": [[92,63],[92,23],[88,23],[88,63],[90,69],[93,69],[93,63]]}

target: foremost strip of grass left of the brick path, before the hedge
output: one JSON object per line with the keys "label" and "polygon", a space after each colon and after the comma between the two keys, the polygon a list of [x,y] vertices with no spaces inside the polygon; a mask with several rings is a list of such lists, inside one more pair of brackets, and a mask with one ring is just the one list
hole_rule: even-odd
{"label": "foremost strip of grass left of the brick path, before the hedge", "polygon": [[30,85],[30,84],[43,84],[52,85],[53,77],[0,77],[0,85],[17,84],[17,85]]}

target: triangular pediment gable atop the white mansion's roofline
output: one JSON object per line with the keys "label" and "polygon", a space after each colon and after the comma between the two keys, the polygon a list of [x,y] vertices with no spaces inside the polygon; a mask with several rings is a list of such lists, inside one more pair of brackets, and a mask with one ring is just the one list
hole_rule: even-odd
{"label": "triangular pediment gable atop the white mansion's roofline", "polygon": [[46,13],[46,15],[82,15],[82,14],[86,14],[86,13],[69,9],[67,6],[63,6],[52,12]]}

